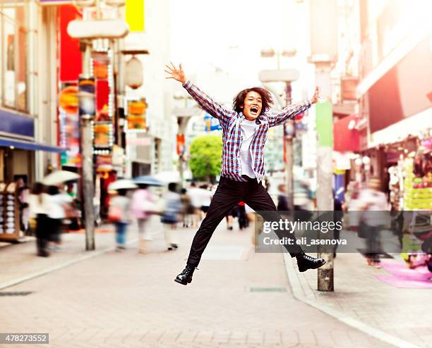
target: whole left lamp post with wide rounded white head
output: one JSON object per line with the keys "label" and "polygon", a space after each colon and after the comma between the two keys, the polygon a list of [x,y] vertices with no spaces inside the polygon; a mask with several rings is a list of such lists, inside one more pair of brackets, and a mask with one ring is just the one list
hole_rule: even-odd
{"label": "whole left lamp post with wide rounded white head", "polygon": [[[75,4],[82,7],[96,7],[96,20],[72,20],[68,24],[68,34],[74,39],[79,39],[83,46],[83,74],[84,79],[90,76],[90,44],[92,39],[119,39],[128,34],[128,25],[120,19],[102,19],[101,0],[76,0]],[[106,0],[107,6],[123,6],[124,0]],[[93,86],[94,89],[94,86]],[[94,106],[94,94],[80,94],[81,102],[85,103],[92,98]],[[82,99],[82,100],[81,100]],[[83,104],[85,105],[85,104]],[[83,108],[85,110],[85,108]],[[88,108],[90,110],[90,108]],[[85,215],[85,249],[95,250],[95,211],[93,208],[93,196],[95,187],[93,183],[93,144],[92,144],[92,119],[94,111],[80,115],[80,137],[82,152],[82,177],[83,177],[83,201]]]}

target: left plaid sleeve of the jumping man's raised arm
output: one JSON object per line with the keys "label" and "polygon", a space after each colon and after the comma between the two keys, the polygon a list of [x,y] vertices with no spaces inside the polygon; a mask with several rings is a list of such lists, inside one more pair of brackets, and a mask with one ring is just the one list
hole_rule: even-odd
{"label": "left plaid sleeve of the jumping man's raised arm", "polygon": [[222,104],[214,101],[207,94],[201,91],[191,80],[184,82],[183,87],[191,94],[192,98],[203,108],[204,111],[210,113],[211,116],[217,118],[223,128],[229,123],[229,118],[234,116],[234,111],[227,110]]}

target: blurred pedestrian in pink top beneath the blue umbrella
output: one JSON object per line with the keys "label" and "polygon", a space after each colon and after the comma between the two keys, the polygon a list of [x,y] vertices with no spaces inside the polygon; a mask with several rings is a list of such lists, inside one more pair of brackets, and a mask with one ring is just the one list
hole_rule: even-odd
{"label": "blurred pedestrian in pink top beneath the blue umbrella", "polygon": [[156,212],[156,199],[150,193],[148,185],[138,184],[138,189],[133,192],[132,211],[138,223],[138,252],[145,254],[148,251],[152,235],[146,228],[152,213]]}

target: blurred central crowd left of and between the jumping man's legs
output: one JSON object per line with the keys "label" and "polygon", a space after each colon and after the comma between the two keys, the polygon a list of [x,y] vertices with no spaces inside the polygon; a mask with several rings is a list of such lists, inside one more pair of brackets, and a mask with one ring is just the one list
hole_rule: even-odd
{"label": "blurred central crowd left of and between the jumping man's legs", "polygon": [[[166,189],[152,185],[136,184],[136,187],[120,188],[112,191],[108,220],[116,228],[116,249],[126,249],[128,225],[135,220],[138,224],[140,253],[147,253],[153,239],[149,220],[160,216],[163,225],[164,241],[168,251],[178,248],[178,228],[198,228],[205,218],[217,185],[191,182],[188,188],[180,188],[175,182]],[[253,220],[252,209],[240,202],[226,216],[228,230],[233,230],[234,219],[238,219],[239,230],[244,230]]]}

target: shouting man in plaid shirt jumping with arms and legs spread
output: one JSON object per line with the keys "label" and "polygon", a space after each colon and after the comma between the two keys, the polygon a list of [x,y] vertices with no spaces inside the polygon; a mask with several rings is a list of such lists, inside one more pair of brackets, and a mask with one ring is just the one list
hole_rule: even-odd
{"label": "shouting man in plaid shirt jumping with arms and legs spread", "polygon": [[[211,116],[219,120],[224,137],[222,149],[222,170],[220,183],[212,199],[208,214],[193,238],[186,268],[177,275],[176,282],[187,285],[192,281],[193,271],[200,262],[212,233],[233,206],[244,201],[263,214],[265,220],[280,221],[276,206],[261,182],[264,171],[264,145],[270,127],[283,125],[289,119],[303,113],[318,101],[318,87],[312,99],[287,106],[279,113],[270,112],[272,96],[262,87],[244,89],[234,98],[234,108],[230,110],[203,93],[190,80],[186,79],[181,65],[167,66],[167,78],[181,82],[198,105]],[[287,235],[287,230],[280,230],[280,237]],[[285,248],[292,257],[296,257],[299,271],[319,268],[324,259],[315,259],[304,254],[296,244],[293,235],[289,236],[293,244]]]}

